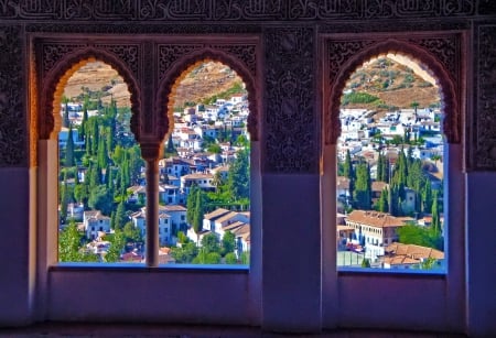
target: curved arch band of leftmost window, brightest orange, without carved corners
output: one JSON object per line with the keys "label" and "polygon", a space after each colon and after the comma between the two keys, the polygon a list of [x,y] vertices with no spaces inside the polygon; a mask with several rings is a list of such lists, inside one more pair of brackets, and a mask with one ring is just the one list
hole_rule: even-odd
{"label": "curved arch band of leftmost window, brightest orange, without carved corners", "polygon": [[[93,62],[103,62],[122,77],[130,92],[131,131],[136,140],[140,140],[140,90],[137,80],[126,64],[114,55],[97,48],[88,47],[61,58],[51,72],[41,79],[42,95],[39,113],[39,138],[41,140],[55,139],[62,126],[61,100],[64,88],[71,76],[80,67]],[[43,61],[41,61],[43,64]]]}

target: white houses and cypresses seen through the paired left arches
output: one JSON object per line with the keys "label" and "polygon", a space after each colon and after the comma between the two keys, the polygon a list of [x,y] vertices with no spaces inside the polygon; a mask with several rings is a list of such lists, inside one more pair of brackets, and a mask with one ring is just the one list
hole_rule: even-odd
{"label": "white houses and cypresses seen through the paired left arches", "polygon": [[[174,108],[173,130],[164,140],[159,162],[162,264],[249,263],[247,94],[228,67],[212,67],[193,69],[198,74],[193,80],[208,81],[202,73],[217,72],[229,87],[198,102],[176,98],[183,105]],[[144,262],[144,162],[129,129],[130,109],[118,107],[111,85],[82,87],[62,100],[60,261]]]}

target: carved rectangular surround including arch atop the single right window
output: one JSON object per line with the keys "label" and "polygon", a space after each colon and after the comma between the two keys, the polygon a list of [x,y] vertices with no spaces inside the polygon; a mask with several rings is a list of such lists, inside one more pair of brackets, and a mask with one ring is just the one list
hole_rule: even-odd
{"label": "carved rectangular surround including arch atop the single right window", "polygon": [[462,108],[460,103],[461,36],[399,39],[330,39],[326,41],[328,111],[324,116],[325,143],[335,144],[341,134],[341,96],[346,81],[364,62],[387,53],[399,53],[417,59],[438,79],[445,112],[443,132],[449,143],[461,142]]}

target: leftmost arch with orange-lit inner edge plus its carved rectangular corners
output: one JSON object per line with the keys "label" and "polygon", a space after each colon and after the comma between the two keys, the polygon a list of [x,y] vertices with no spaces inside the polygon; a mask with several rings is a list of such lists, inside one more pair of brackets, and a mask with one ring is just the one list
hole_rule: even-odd
{"label": "leftmost arch with orange-lit inner edge plus its carved rectangular corners", "polygon": [[[139,45],[67,44],[64,42],[41,42],[37,46],[40,81],[42,85],[39,129],[41,139],[52,139],[60,130],[60,102],[68,77],[88,61],[103,61],[115,68],[131,94],[131,130],[140,138],[140,100],[136,78],[140,76]],[[83,63],[83,64],[82,64]]]}

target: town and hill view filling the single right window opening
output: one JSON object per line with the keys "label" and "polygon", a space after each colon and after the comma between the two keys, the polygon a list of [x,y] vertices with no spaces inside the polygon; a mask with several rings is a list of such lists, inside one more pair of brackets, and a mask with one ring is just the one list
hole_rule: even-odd
{"label": "town and hill view filling the single right window opening", "polygon": [[[337,240],[339,269],[403,268],[398,246],[425,247],[445,260],[443,156],[422,152],[443,154],[443,111],[436,80],[425,69],[407,56],[379,55],[345,86],[336,196],[337,212],[354,233]],[[431,226],[422,226],[425,220]],[[367,238],[362,229],[368,228],[381,239]],[[421,259],[419,269],[425,268]]]}

